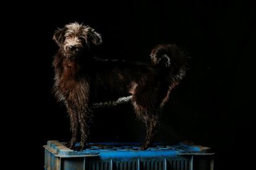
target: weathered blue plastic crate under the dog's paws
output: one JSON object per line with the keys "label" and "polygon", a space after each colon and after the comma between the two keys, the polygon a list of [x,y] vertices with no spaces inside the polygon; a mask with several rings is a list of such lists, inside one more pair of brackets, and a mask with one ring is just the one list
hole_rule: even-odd
{"label": "weathered blue plastic crate under the dog's paws", "polygon": [[154,145],[139,150],[139,144],[93,143],[83,152],[50,140],[45,145],[45,169],[50,170],[213,170],[208,147],[195,145]]}

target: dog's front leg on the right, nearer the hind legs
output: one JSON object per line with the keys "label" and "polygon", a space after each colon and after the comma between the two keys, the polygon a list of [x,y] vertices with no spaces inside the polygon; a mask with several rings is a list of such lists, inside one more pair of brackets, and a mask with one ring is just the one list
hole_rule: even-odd
{"label": "dog's front leg on the right, nearer the hind legs", "polygon": [[80,150],[87,148],[88,139],[90,136],[90,123],[92,123],[93,115],[92,111],[88,107],[83,107],[79,109],[79,123],[80,123]]}

